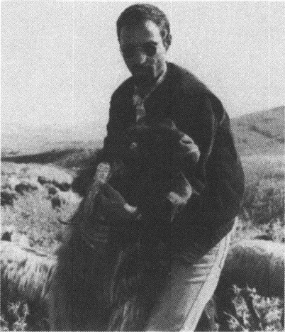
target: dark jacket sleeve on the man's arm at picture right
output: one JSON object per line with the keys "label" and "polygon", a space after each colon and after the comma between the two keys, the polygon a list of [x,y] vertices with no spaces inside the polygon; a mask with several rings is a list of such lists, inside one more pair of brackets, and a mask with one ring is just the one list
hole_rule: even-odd
{"label": "dark jacket sleeve on the man's arm at picture right", "polygon": [[[203,94],[196,100],[189,98],[189,103],[192,104],[186,104],[186,108],[190,107],[200,118],[196,130],[203,133],[197,169],[202,183],[199,194],[191,197],[178,218],[177,241],[184,244],[192,241],[197,247],[211,248],[233,227],[245,179],[223,105],[211,94]],[[190,136],[191,131],[194,127],[187,132]]]}

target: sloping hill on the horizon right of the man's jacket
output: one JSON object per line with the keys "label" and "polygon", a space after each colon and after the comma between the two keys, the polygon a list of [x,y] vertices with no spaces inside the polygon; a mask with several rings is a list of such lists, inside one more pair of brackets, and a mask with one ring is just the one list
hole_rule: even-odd
{"label": "sloping hill on the horizon right of the man's jacket", "polygon": [[284,155],[285,106],[231,118],[240,155]]}

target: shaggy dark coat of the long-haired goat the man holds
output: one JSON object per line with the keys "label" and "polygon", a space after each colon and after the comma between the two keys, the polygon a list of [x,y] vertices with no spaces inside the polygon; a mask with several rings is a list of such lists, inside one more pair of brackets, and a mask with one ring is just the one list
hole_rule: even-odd
{"label": "shaggy dark coat of the long-haired goat the man holds", "polygon": [[[106,248],[96,250],[82,234],[99,221],[96,211],[86,220],[82,201],[58,253],[49,294],[53,331],[142,330],[163,286],[169,224],[191,196],[174,155],[182,153],[181,133],[164,123],[133,128],[126,137],[109,184],[139,207],[143,221],[111,227]],[[86,168],[88,178],[94,168]]]}

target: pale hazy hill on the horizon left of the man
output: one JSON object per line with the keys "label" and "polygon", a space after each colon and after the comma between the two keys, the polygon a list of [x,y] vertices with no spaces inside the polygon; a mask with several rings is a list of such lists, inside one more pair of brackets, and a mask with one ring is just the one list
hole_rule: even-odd
{"label": "pale hazy hill on the horizon left of the man", "polygon": [[18,123],[1,129],[1,159],[16,157],[16,162],[26,162],[27,158],[30,160],[33,156],[37,162],[52,162],[52,153],[100,148],[106,135],[105,126],[91,121],[63,128],[37,125],[26,127]]}

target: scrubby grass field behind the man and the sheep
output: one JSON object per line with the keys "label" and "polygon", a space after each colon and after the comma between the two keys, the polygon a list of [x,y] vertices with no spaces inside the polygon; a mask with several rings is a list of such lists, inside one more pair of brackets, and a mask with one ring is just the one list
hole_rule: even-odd
{"label": "scrubby grass field behind the man and the sheep", "polygon": [[[2,232],[14,228],[12,240],[54,253],[62,242],[65,225],[77,209],[80,197],[70,189],[76,173],[79,155],[81,165],[88,153],[69,153],[55,157],[53,164],[3,162],[1,169]],[[75,160],[77,162],[75,162]],[[264,238],[284,243],[284,160],[281,156],[245,156],[242,163],[246,175],[245,201],[240,211],[235,241],[244,238]],[[55,166],[56,165],[56,166]],[[62,167],[64,166],[64,167]],[[28,243],[27,243],[28,242]],[[257,294],[255,306],[266,331],[281,329],[283,302],[264,299]],[[247,307],[238,293],[235,297],[242,326],[233,317],[232,331],[250,331]],[[26,309],[25,309],[26,308]],[[1,326],[14,331],[44,326],[29,323],[28,307],[23,303],[9,306],[2,316]],[[8,314],[7,314],[8,312]],[[7,316],[8,315],[8,316]]]}

